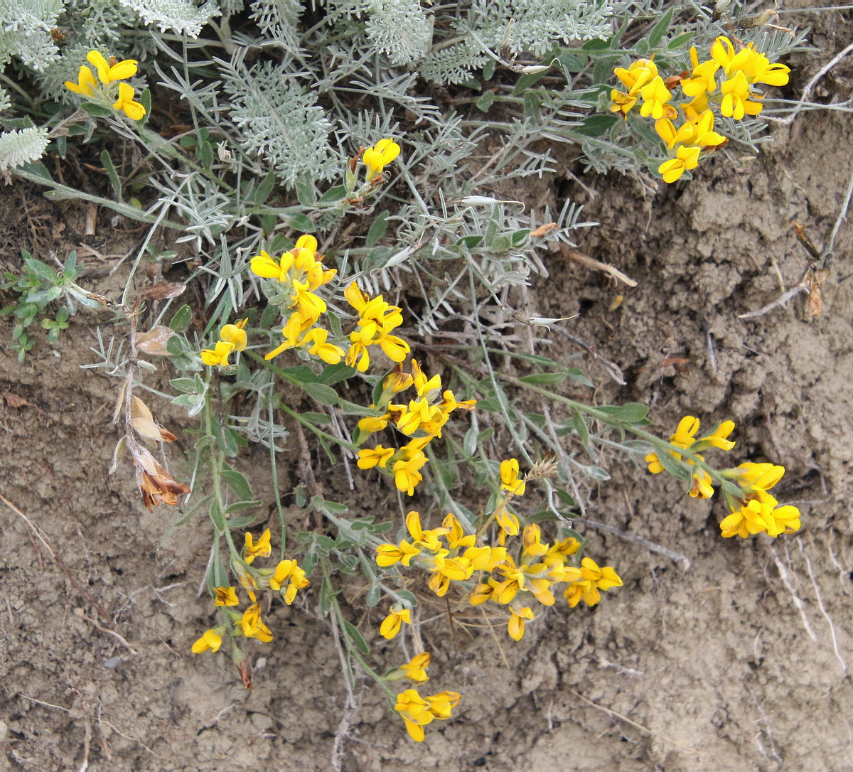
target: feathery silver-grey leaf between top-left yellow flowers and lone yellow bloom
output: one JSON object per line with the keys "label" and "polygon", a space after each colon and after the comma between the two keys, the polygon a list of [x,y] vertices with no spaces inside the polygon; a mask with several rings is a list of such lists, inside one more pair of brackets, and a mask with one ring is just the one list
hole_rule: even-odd
{"label": "feathery silver-grey leaf between top-left yellow flowers and lone yellow bloom", "polygon": [[241,146],[262,156],[288,186],[303,176],[331,179],[342,159],[329,146],[333,126],[315,96],[286,64],[247,67],[246,53],[240,49],[231,61],[217,60]]}

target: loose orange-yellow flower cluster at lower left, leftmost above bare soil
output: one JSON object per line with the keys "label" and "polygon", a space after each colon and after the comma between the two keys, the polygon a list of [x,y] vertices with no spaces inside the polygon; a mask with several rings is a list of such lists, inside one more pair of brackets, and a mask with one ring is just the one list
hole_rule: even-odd
{"label": "loose orange-yellow flower cluster at lower left, leftmost above bare soil", "polygon": [[[270,628],[264,624],[261,619],[261,605],[258,602],[258,597],[255,595],[255,590],[259,588],[269,588],[281,595],[281,598],[290,606],[296,598],[296,593],[300,589],[308,587],[310,582],[305,578],[305,571],[299,566],[296,560],[280,560],[275,570],[267,568],[255,571],[247,566],[252,565],[252,561],[258,557],[269,557],[272,554],[272,546],[270,545],[270,529],[267,528],[258,540],[252,537],[251,533],[246,534],[246,545],[243,549],[243,562],[245,566],[232,562],[232,566],[237,574],[237,579],[241,583],[243,589],[246,590],[249,596],[250,605],[242,613],[227,612],[231,622],[234,624],[235,630],[231,635],[241,635],[246,638],[257,638],[258,641],[268,643],[272,641],[272,633]],[[285,586],[287,584],[287,586]],[[240,600],[237,597],[237,589],[235,587],[216,587],[213,590],[213,602],[218,607],[228,608],[239,606]],[[208,650],[217,652],[222,646],[222,636],[225,633],[225,626],[218,625],[211,630],[206,630],[205,634],[195,641],[193,644],[193,653],[206,652]]]}

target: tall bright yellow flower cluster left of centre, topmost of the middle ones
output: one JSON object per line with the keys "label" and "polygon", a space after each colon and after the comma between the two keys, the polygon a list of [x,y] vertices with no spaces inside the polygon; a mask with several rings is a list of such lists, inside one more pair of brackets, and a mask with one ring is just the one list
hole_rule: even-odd
{"label": "tall bright yellow flower cluster left of centre, topmost of the middle ones", "polygon": [[284,343],[270,351],[264,359],[272,359],[282,351],[295,347],[308,347],[310,354],[323,362],[337,364],[344,356],[339,345],[327,343],[328,331],[315,327],[326,312],[326,301],[315,290],[332,281],[337,270],[325,269],[322,255],[317,254],[317,240],[312,235],[299,236],[296,246],[281,258],[271,258],[261,252],[252,258],[249,270],[255,276],[275,279],[281,283],[281,294],[287,297],[282,315],[287,316],[281,334]]}

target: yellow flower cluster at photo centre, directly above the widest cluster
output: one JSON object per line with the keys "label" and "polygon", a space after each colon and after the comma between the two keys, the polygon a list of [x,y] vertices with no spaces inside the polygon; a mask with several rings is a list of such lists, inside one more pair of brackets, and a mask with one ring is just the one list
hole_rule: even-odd
{"label": "yellow flower cluster at photo centre, directly above the widest cluster", "polygon": [[[408,404],[391,402],[395,394],[410,386],[415,388],[418,399],[411,399]],[[473,410],[475,404],[476,400],[473,399],[457,402],[450,389],[442,392],[441,376],[437,374],[427,378],[415,359],[411,361],[411,373],[403,373],[402,365],[397,365],[383,382],[379,403],[374,405],[377,409],[386,410],[385,414],[368,416],[358,421],[359,439],[363,441],[370,434],[382,431],[389,423],[406,437],[415,433],[421,433],[421,436],[410,439],[398,450],[383,447],[381,444],[375,448],[359,450],[358,467],[390,470],[394,475],[397,490],[403,490],[412,496],[415,487],[423,479],[421,468],[428,461],[424,448],[432,438],[441,437],[442,427],[454,410]]]}

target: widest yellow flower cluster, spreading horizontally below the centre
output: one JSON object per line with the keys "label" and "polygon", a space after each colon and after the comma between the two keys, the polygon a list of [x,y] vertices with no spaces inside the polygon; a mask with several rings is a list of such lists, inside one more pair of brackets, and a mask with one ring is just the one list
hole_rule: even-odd
{"label": "widest yellow flower cluster, spreading horizontally below the centre", "polygon": [[[504,469],[512,471],[512,467]],[[507,485],[517,489],[517,476],[509,483],[502,482],[502,487]],[[580,601],[595,606],[601,600],[602,589],[622,586],[622,579],[611,566],[600,568],[591,558],[583,558],[580,566],[569,565],[569,559],[581,546],[577,539],[567,537],[553,545],[543,543],[538,525],[527,525],[522,531],[516,560],[503,546],[507,535],[519,534],[518,518],[506,511],[506,503],[512,496],[513,493],[508,492],[490,518],[501,526],[501,546],[478,544],[477,536],[466,534],[453,514],[444,518],[440,528],[424,530],[421,515],[412,511],[406,515],[411,541],[403,539],[399,544],[380,544],[376,548],[376,564],[382,568],[397,563],[411,566],[416,559],[416,565],[431,572],[429,586],[439,597],[447,594],[452,582],[466,582],[478,574],[479,580],[469,595],[469,602],[473,606],[486,601],[508,606],[508,633],[516,641],[524,636],[525,619],[534,618],[533,601],[543,606],[554,605],[554,585],[566,585],[563,595],[570,607],[577,606]],[[399,632],[401,622],[411,624],[410,613],[408,608],[392,607],[380,628],[382,636],[392,638]]]}

